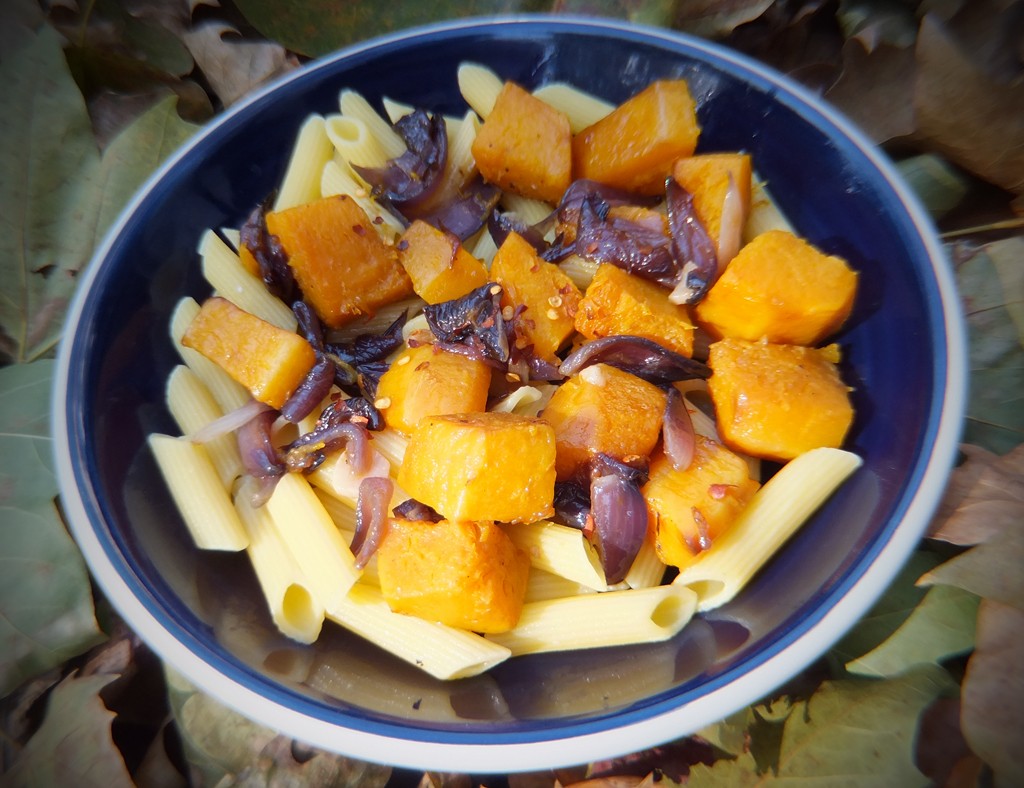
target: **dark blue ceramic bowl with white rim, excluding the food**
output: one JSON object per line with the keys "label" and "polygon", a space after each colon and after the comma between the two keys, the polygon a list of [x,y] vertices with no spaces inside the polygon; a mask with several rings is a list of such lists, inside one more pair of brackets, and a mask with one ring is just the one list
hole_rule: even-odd
{"label": "dark blue ceramic bowl with white rim, excluding the food", "polygon": [[[329,626],[276,634],[248,562],[201,555],[144,438],[173,432],[168,317],[202,298],[196,245],[239,226],[282,176],[300,122],[342,88],[461,113],[471,60],[526,86],[611,101],[689,81],[702,150],[751,151],[799,231],[860,271],[839,337],[863,468],[741,596],[669,643],[513,659],[435,682]],[[612,21],[516,17],[396,34],[319,60],[225,113],[142,188],[83,277],[61,348],[54,430],[63,505],[103,592],[200,688],[324,748],[420,769],[512,772],[585,762],[689,734],[819,657],[921,537],[962,421],[958,301],[933,228],[890,164],[828,106],[725,49]]]}

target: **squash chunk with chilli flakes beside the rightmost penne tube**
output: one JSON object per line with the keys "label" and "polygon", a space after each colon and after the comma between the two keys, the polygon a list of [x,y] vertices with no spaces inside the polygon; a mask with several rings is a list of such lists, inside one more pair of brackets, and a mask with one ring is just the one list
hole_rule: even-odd
{"label": "squash chunk with chilli flakes beside the rightmost penne tube", "polygon": [[654,549],[669,566],[682,568],[732,525],[761,486],[746,461],[721,443],[697,435],[689,467],[677,471],[660,451],[641,489],[654,524]]}

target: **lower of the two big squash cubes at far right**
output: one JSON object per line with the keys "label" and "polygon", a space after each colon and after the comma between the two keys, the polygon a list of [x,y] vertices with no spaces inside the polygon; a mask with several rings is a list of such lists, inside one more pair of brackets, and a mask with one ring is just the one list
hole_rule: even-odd
{"label": "lower of the two big squash cubes at far right", "polygon": [[838,345],[714,343],[708,389],[722,440],[737,451],[779,462],[819,446],[839,448],[853,423],[839,360]]}

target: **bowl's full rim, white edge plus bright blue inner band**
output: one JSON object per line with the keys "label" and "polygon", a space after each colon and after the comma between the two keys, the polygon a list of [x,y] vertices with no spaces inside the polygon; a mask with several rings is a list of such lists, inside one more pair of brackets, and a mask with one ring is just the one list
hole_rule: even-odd
{"label": "bowl's full rim, white edge plus bright blue inner band", "polygon": [[[274,91],[296,80],[335,68],[341,61],[365,58],[380,49],[400,47],[412,39],[443,41],[467,31],[511,27],[528,32],[557,30],[580,34],[612,34],[641,44],[655,44],[711,62],[775,97],[810,125],[824,129],[854,158],[866,160],[886,182],[892,207],[905,212],[907,245],[932,261],[934,279],[923,282],[928,302],[929,330],[944,344],[936,348],[933,388],[940,392],[930,403],[923,444],[931,447],[919,456],[904,493],[887,528],[846,569],[827,595],[807,603],[799,624],[764,643],[751,658],[727,666],[695,689],[663,693],[630,708],[585,719],[524,723],[501,731],[467,728],[451,730],[400,725],[379,715],[339,710],[293,693],[256,674],[216,644],[197,632],[182,610],[165,607],[152,583],[126,560],[113,519],[94,484],[95,457],[85,431],[88,398],[66,396],[87,389],[86,376],[76,359],[88,357],[94,336],[87,329],[96,316],[95,293],[108,271],[102,261],[118,247],[119,237],[135,222],[136,212],[175,167],[211,135],[243,124],[258,112]],[[73,534],[93,575],[124,618],[169,664],[200,689],[248,716],[270,725],[296,739],[368,760],[419,769],[466,772],[514,772],[585,762],[626,753],[693,732],[732,710],[764,696],[822,654],[873,604],[918,544],[938,505],[956,453],[966,399],[966,343],[959,301],[945,255],[931,221],[903,185],[891,164],[849,122],[791,80],[768,73],[760,63],[723,47],[687,36],[590,18],[514,16],[438,24],[374,39],[286,76],[237,105],[197,134],[141,188],[96,252],[80,284],[68,319],[70,341],[62,344],[54,387],[53,427],[56,468],[62,501]]]}

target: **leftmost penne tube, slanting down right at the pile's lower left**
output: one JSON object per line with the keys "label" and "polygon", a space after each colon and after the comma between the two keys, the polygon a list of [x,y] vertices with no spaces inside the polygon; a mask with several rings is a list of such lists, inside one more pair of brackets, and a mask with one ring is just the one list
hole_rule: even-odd
{"label": "leftmost penne tube, slanting down right at the pile's lower left", "polygon": [[206,449],[187,438],[159,433],[150,436],[150,448],[197,546],[245,550],[246,529]]}

